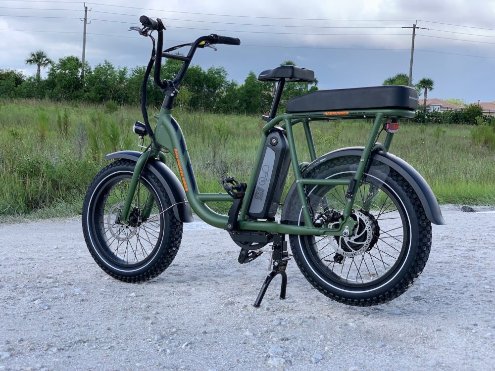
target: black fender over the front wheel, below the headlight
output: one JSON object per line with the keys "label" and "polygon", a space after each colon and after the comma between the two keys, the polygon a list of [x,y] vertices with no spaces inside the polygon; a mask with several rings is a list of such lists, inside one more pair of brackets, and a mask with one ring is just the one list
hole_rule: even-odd
{"label": "black fender over the front wheel, below the headlight", "polygon": [[[138,151],[119,151],[109,153],[105,156],[105,160],[115,160],[123,158],[131,161],[138,161],[141,156],[141,152]],[[170,198],[172,204],[187,201],[186,192],[182,187],[181,183],[177,179],[170,168],[163,162],[156,160],[154,158],[149,159],[146,164],[146,168],[153,173],[156,178],[161,182],[167,191],[167,195]],[[173,207],[174,215],[179,222],[191,223],[193,221],[193,213],[191,211],[191,206],[189,203],[180,203]]]}

